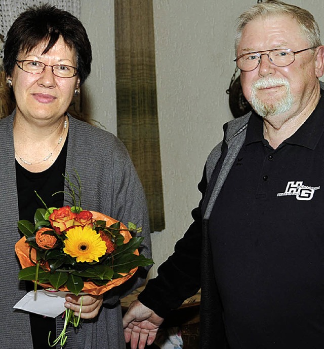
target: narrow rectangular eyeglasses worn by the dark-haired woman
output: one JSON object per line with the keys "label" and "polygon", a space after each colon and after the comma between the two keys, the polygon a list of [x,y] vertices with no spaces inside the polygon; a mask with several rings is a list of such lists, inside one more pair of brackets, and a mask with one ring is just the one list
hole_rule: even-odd
{"label": "narrow rectangular eyeglasses worn by the dark-haired woman", "polygon": [[37,60],[29,59],[16,59],[16,64],[24,72],[30,74],[41,74],[45,71],[45,68],[47,66],[50,66],[52,68],[53,74],[59,78],[72,78],[77,74],[77,68],[75,66],[65,64],[48,65],[43,62],[38,62]]}

